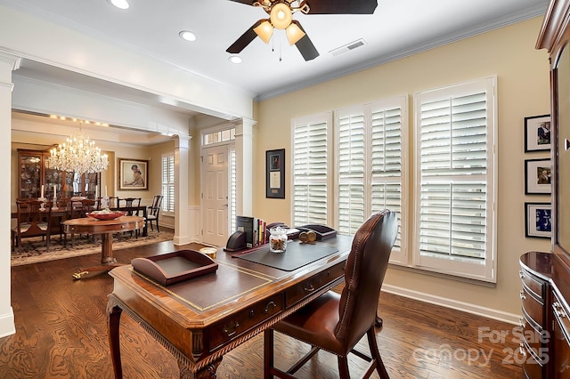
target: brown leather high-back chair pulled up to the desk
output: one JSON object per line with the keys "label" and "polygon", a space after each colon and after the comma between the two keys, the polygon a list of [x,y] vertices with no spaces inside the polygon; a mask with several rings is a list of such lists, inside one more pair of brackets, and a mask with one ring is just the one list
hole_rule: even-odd
{"label": "brown leather high-back chair pulled up to the desk", "polygon": [[[354,235],[346,259],[345,286],[341,294],[332,290],[282,319],[264,332],[264,377],[293,378],[297,370],[319,350],[329,351],[338,358],[339,377],[350,377],[349,353],[369,362],[362,377],[369,378],[374,370],[380,378],[388,374],[380,358],[374,324],[380,288],[386,274],[388,259],[395,243],[398,225],[394,212],[383,210],[362,224]],[[312,346],[311,350],[282,371],[274,367],[274,331],[289,335]],[[368,337],[371,356],[355,348],[364,335]]]}

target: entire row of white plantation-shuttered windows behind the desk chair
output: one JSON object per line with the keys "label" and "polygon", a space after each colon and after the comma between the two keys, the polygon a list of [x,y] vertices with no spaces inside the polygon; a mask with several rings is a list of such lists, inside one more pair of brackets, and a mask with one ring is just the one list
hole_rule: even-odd
{"label": "entire row of white plantation-shuttered windows behind the desk chair", "polygon": [[415,165],[407,95],[338,109],[333,130],[330,114],[294,119],[294,224],[354,234],[388,208],[391,263],[496,282],[495,93],[496,77],[416,93]]}

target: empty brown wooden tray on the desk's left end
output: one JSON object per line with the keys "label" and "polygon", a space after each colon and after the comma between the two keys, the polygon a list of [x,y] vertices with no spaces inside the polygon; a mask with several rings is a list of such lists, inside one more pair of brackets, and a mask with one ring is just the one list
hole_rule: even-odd
{"label": "empty brown wooden tray on the desk's left end", "polygon": [[134,258],[131,264],[135,271],[163,286],[215,272],[218,266],[213,259],[195,250]]}

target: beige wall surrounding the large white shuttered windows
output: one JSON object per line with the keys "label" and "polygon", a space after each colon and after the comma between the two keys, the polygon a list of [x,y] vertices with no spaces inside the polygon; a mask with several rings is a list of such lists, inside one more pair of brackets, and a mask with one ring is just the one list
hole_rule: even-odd
{"label": "beige wall surrounding the large white shuttered windows", "polygon": [[[265,150],[286,149],[290,163],[290,120],[408,94],[409,125],[413,128],[413,93],[473,79],[498,77],[499,204],[497,285],[490,288],[449,278],[436,278],[408,270],[388,270],[385,284],[417,291],[431,300],[449,299],[466,308],[520,312],[519,255],[529,250],[549,251],[548,240],[525,238],[525,201],[550,198],[525,196],[525,158],[548,157],[524,152],[524,117],[550,113],[549,64],[544,51],[536,51],[542,18],[474,36],[373,69],[331,80],[256,104],[258,124],[254,135],[254,214],[267,221],[290,222],[291,172],[286,171],[286,199],[265,198]],[[411,161],[411,151],[408,159]],[[413,165],[410,165],[410,169]],[[413,190],[412,175],[409,175]],[[409,199],[412,193],[407,194]],[[410,203],[410,209],[413,209]],[[409,253],[411,254],[411,252]],[[443,300],[443,302],[445,302]]]}

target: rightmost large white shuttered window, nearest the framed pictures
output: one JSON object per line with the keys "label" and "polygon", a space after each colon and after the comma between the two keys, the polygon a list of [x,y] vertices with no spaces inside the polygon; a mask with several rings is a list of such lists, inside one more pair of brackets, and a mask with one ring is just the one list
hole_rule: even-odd
{"label": "rightmost large white shuttered window, nearest the framed pictures", "polygon": [[496,281],[495,83],[415,94],[419,267]]}

